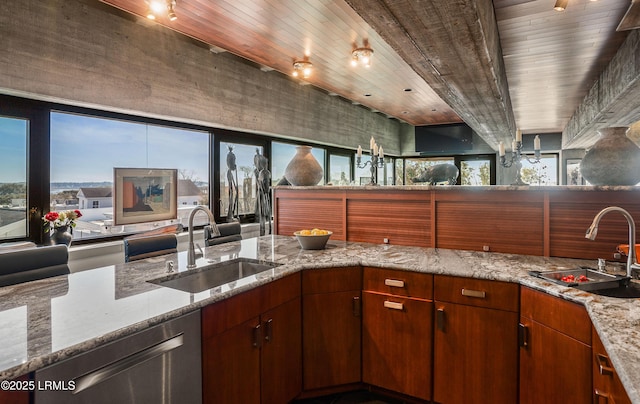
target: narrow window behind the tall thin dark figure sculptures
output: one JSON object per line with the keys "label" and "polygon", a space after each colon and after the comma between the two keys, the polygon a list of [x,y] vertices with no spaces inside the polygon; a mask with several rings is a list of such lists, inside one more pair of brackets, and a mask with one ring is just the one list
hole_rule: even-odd
{"label": "narrow window behind the tall thin dark figure sculptures", "polygon": [[256,179],[253,163],[260,145],[220,142],[220,216],[241,217],[256,212]]}

